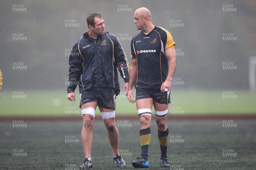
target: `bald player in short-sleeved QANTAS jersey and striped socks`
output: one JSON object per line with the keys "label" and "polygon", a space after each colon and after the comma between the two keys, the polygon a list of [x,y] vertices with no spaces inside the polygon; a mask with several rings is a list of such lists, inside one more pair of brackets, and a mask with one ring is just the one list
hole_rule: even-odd
{"label": "bald player in short-sleeved QANTAS jersey and striped socks", "polygon": [[[175,42],[164,28],[154,26],[151,12],[139,8],[134,12],[134,23],[141,30],[131,40],[131,66],[129,71],[128,100],[136,101],[140,116],[141,157],[132,162],[134,167],[146,168],[148,146],[151,139],[151,109],[154,105],[160,142],[160,167],[169,167],[167,158],[167,112],[171,81],[176,69]],[[136,89],[135,100],[132,88]]]}

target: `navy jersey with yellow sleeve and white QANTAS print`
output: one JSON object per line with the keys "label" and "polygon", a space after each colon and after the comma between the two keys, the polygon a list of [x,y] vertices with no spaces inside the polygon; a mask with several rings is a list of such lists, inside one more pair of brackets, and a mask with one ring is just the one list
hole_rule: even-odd
{"label": "navy jersey with yellow sleeve and white QANTAS print", "polygon": [[161,87],[166,80],[169,68],[165,50],[174,46],[172,35],[164,28],[157,26],[148,34],[140,31],[131,40],[131,58],[137,61],[135,89]]}

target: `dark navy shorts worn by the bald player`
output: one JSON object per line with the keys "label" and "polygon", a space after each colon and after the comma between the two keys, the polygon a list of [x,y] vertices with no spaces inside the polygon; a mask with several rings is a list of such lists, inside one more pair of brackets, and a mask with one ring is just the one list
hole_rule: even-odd
{"label": "dark navy shorts worn by the bald player", "polygon": [[171,103],[170,93],[171,89],[163,93],[160,91],[160,88],[136,89],[136,100],[153,98],[154,102],[168,104]]}

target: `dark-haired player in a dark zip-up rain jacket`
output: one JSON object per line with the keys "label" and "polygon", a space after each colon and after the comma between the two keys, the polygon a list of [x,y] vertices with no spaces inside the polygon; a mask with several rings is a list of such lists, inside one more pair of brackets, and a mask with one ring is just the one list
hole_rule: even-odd
{"label": "dark-haired player in a dark zip-up rain jacket", "polygon": [[117,37],[105,32],[105,23],[100,14],[90,14],[87,25],[89,32],[76,42],[70,54],[67,88],[67,98],[75,101],[74,91],[79,85],[83,116],[81,138],[85,155],[80,168],[92,167],[92,129],[97,106],[108,130],[114,163],[117,167],[125,167],[125,162],[118,153],[119,131],[115,124],[115,99],[120,92],[117,69],[125,81],[123,92],[128,89],[128,60]]}

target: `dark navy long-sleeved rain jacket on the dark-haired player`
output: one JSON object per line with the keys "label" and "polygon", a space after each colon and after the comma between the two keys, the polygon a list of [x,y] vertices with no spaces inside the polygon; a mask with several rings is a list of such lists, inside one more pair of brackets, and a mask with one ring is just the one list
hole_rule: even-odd
{"label": "dark navy long-sleeved rain jacket on the dark-haired player", "polygon": [[128,82],[128,60],[117,37],[105,32],[97,39],[84,33],[76,41],[69,58],[69,85],[67,93],[89,88],[115,88],[116,96],[120,92],[117,69],[121,77]]}

